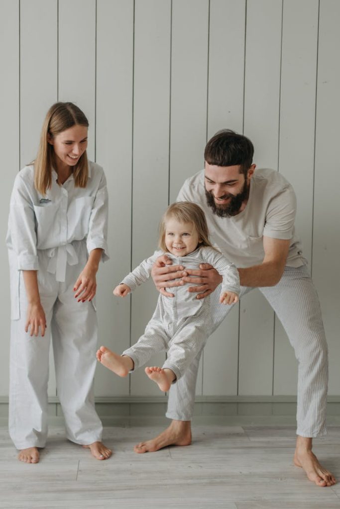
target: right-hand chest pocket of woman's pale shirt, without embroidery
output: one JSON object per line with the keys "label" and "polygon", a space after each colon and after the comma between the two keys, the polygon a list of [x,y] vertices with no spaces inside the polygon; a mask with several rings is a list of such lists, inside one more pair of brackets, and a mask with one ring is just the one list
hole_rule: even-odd
{"label": "right-hand chest pocket of woman's pale shirt, without embroidery", "polygon": [[73,240],[83,240],[89,233],[89,223],[94,196],[77,198],[69,207],[67,214],[68,236]]}

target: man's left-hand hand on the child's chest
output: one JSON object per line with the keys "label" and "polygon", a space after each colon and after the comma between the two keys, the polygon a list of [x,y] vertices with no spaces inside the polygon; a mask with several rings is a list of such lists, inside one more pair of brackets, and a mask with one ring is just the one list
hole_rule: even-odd
{"label": "man's left-hand hand on the child's chest", "polygon": [[188,272],[184,272],[184,267],[182,265],[172,265],[172,261],[166,254],[162,254],[155,261],[151,270],[151,277],[156,289],[165,297],[174,297],[174,294],[167,292],[165,288],[182,286],[184,284],[182,280],[175,281],[174,279],[186,275],[188,275]]}

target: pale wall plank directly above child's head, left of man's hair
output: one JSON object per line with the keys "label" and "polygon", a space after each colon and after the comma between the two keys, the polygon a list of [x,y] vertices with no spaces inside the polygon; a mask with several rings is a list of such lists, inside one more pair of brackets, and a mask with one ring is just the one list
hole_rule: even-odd
{"label": "pale wall plank directly above child's head, left of man's hair", "polygon": [[[208,23],[207,0],[172,0],[170,203],[176,200],[185,179],[204,166]],[[199,394],[203,364],[201,360],[196,385]]]}

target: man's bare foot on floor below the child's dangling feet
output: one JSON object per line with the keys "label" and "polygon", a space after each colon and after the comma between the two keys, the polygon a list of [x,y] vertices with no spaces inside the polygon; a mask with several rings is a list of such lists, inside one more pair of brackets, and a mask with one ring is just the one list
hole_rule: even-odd
{"label": "man's bare foot on floor below the child's dangling feet", "polygon": [[166,430],[158,437],[140,442],[135,445],[135,453],[154,453],[168,445],[190,445],[191,444],[191,422],[190,420],[173,420]]}

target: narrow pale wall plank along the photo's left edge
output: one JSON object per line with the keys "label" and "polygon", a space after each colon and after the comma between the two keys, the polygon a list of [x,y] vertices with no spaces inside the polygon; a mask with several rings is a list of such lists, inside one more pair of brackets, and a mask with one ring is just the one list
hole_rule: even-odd
{"label": "narrow pale wall plank along the photo's left edge", "polygon": [[[9,51],[10,48],[10,51]],[[1,288],[1,321],[4,327],[2,364],[0,370],[0,395],[9,390],[9,346],[10,346],[10,299],[9,267],[7,247],[7,218],[13,180],[19,170],[19,2],[0,2],[0,147],[5,176],[1,185],[1,238],[0,260],[3,267],[4,284]]]}

